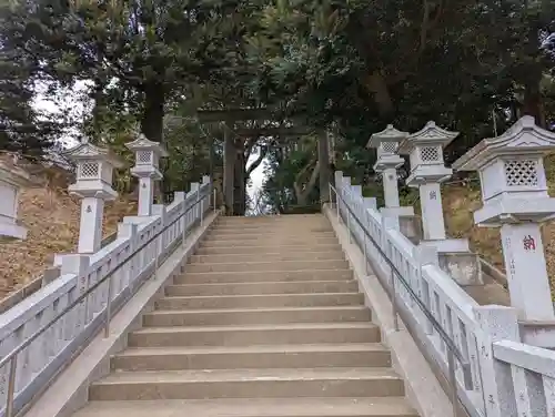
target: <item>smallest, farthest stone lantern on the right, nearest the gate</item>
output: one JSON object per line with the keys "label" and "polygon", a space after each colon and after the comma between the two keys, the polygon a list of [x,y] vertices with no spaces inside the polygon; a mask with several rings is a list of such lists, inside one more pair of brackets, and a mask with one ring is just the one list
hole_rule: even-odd
{"label": "smallest, farthest stone lantern on the right, nearest the gate", "polygon": [[401,132],[387,124],[383,131],[374,133],[367,148],[375,148],[377,161],[374,171],[382,174],[385,207],[381,211],[394,218],[414,216],[413,207],[401,207],[398,202],[397,167],[404,164],[398,156],[398,144],[408,136],[408,132]]}

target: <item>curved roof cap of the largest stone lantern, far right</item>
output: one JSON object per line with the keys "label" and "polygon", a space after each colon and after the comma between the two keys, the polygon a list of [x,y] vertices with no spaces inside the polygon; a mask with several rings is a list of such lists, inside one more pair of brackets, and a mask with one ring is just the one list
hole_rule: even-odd
{"label": "curved roof cap of the largest stone lantern, far right", "polygon": [[545,154],[553,150],[555,133],[539,128],[533,116],[525,115],[502,135],[483,139],[456,160],[453,167],[458,171],[476,171],[502,155]]}

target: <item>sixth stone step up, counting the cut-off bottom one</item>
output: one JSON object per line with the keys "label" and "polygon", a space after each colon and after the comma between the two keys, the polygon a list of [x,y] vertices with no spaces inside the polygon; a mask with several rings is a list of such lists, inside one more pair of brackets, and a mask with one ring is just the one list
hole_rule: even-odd
{"label": "sixth stone step up, counting the cut-off bottom one", "polygon": [[193,297],[164,297],[157,301],[159,309],[188,308],[255,308],[255,307],[317,307],[363,305],[360,293],[324,294],[264,294],[264,295],[218,295]]}

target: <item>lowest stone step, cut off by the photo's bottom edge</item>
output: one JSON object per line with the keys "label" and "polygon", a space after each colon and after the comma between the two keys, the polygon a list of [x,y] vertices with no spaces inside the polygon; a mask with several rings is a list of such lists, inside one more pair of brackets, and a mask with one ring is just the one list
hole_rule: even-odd
{"label": "lowest stone step, cut off by the photo's bottom edge", "polygon": [[92,401],[74,417],[417,417],[403,397]]}

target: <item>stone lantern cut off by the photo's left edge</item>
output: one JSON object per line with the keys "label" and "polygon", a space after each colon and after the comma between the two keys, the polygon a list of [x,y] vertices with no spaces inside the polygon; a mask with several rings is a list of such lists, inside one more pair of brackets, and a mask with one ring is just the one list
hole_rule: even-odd
{"label": "stone lantern cut off by the photo's left edge", "polygon": [[0,161],[0,238],[26,238],[27,228],[18,223],[19,191],[32,185],[30,175],[13,163]]}

